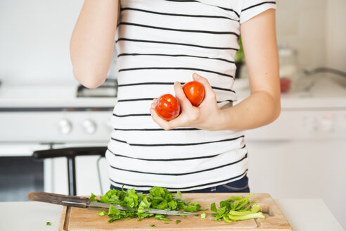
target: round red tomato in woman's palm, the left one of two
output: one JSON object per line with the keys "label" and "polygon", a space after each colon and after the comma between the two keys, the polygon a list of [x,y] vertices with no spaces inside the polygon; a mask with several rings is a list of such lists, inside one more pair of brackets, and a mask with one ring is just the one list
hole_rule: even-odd
{"label": "round red tomato in woman's palm, the left one of two", "polygon": [[180,113],[179,100],[172,94],[164,94],[158,98],[155,111],[164,120],[173,120]]}

